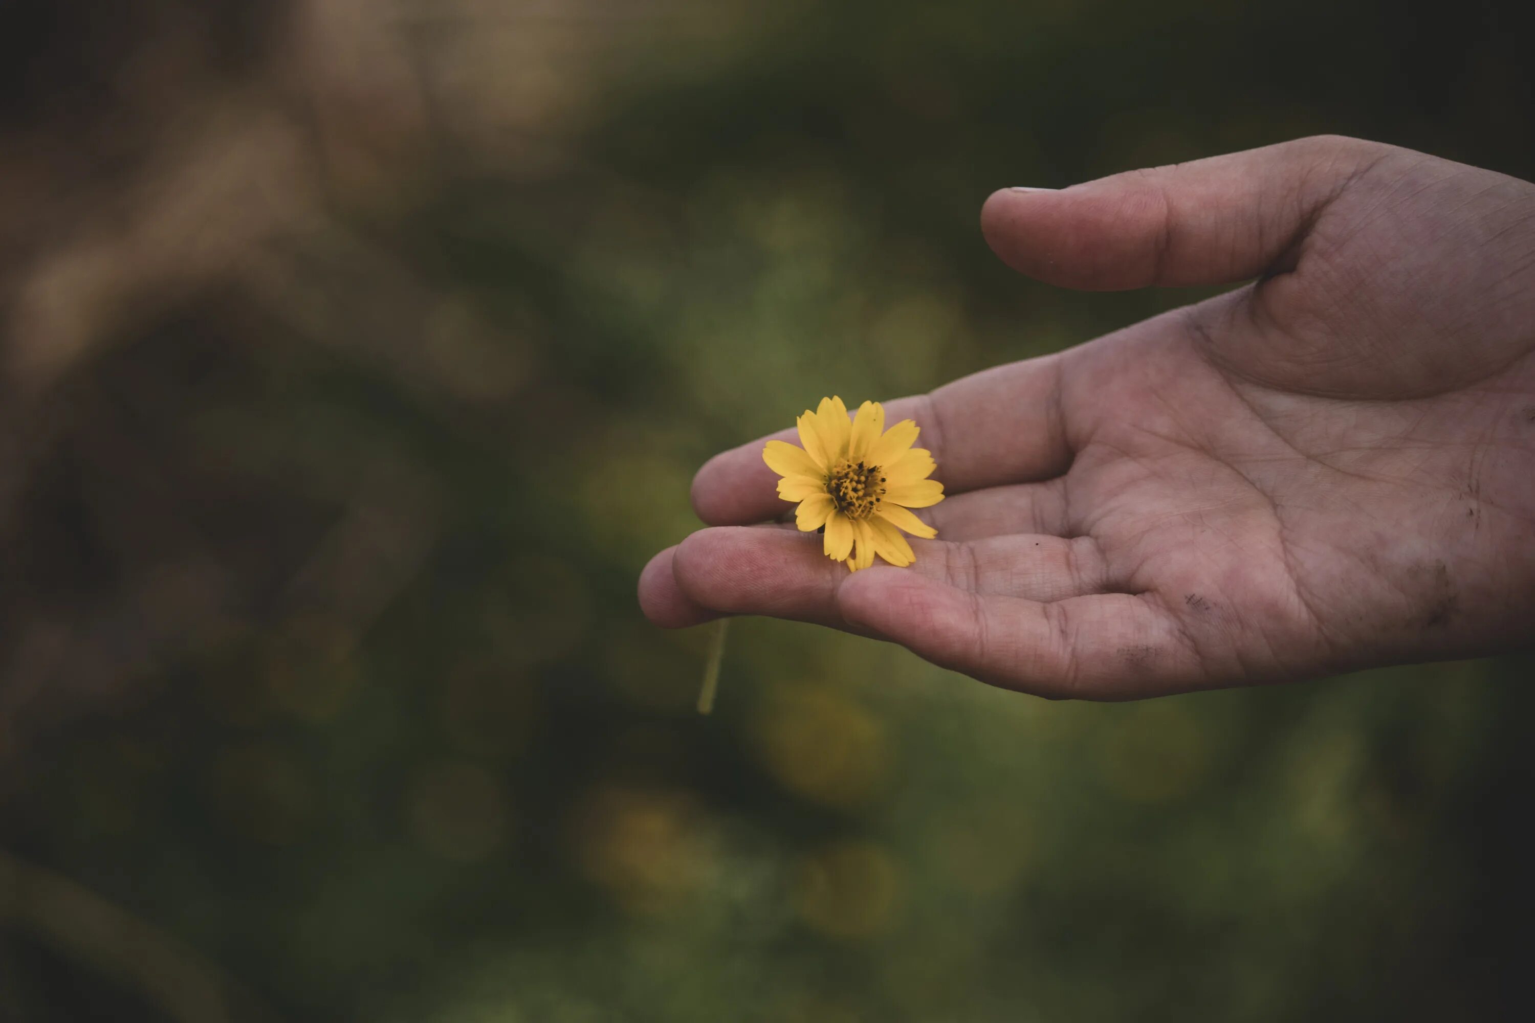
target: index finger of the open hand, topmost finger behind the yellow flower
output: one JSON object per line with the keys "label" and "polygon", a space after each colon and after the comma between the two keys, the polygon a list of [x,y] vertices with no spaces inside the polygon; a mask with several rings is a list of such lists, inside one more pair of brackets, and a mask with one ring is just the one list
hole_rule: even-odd
{"label": "index finger of the open hand, topmost finger behind the yellow flower", "polygon": [[[884,420],[916,422],[918,448],[938,463],[933,479],[950,494],[1027,483],[1071,463],[1061,414],[1062,354],[982,370],[886,405]],[[855,402],[849,402],[855,405]],[[769,440],[798,443],[794,429],[714,456],[692,480],[692,506],[711,526],[744,526],[792,508],[777,494],[778,474],[763,462]]]}

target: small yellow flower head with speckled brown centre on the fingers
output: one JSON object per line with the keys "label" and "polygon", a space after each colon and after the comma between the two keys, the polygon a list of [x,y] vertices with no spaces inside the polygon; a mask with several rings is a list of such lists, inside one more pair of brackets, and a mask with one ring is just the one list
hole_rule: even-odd
{"label": "small yellow flower head with speckled brown centre on the fingers", "polygon": [[847,422],[840,397],[823,397],[817,411],[804,410],[797,420],[797,448],[769,440],[763,462],[778,480],[778,497],[798,502],[794,520],[801,532],[826,529],[823,549],[834,561],[847,561],[857,572],[880,555],[890,564],[916,560],[901,531],[930,540],[938,531],[913,515],[944,498],[944,485],[929,480],[933,456],[913,448],[916,423],[903,419],[884,428],[884,406],[864,402]]}

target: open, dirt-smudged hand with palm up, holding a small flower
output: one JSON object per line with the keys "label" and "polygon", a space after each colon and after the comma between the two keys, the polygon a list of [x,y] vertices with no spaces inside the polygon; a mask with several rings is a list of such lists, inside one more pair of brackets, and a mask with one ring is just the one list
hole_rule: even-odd
{"label": "open, dirt-smudged hand with palm up, holding a small flower", "polygon": [[950,494],[909,569],[754,525],[789,508],[766,439],[715,456],[712,528],[640,578],[654,623],[814,621],[1088,699],[1535,641],[1535,186],[1308,138],[1008,189],[981,225],[1062,287],[1249,282],[890,402]]}

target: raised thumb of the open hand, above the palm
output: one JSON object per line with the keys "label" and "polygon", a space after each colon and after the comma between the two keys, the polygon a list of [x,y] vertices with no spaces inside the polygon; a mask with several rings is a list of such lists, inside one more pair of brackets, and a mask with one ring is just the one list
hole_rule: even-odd
{"label": "raised thumb of the open hand, above the palm", "polygon": [[1068,288],[1233,284],[1292,268],[1326,204],[1388,152],[1325,135],[1059,192],[1004,189],[981,230],[1002,262]]}

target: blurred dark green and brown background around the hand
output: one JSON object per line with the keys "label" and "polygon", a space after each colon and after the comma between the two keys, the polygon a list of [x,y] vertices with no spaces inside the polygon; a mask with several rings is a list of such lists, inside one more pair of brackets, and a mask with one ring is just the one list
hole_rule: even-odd
{"label": "blurred dark green and brown background around the hand", "polygon": [[649,627],[692,469],[1197,294],[976,215],[1535,176],[1527,5],[0,3],[0,1020],[1504,1018],[1535,661],[1053,704]]}

